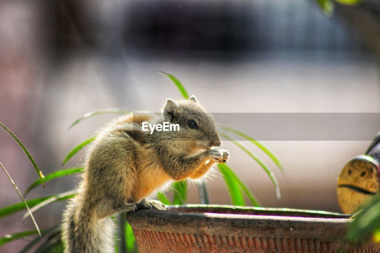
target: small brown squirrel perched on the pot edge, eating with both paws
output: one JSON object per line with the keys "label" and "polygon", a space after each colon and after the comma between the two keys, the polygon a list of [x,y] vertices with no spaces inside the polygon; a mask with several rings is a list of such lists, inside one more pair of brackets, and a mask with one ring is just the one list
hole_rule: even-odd
{"label": "small brown squirrel perched on the pot edge, eating with both paws", "polygon": [[[179,131],[142,131],[142,122],[170,122]],[[146,198],[173,181],[204,176],[230,154],[222,144],[214,117],[195,96],[166,100],[162,114],[129,114],[101,129],[85,157],[78,194],[63,213],[65,253],[114,252],[111,218],[138,209],[165,209]]]}

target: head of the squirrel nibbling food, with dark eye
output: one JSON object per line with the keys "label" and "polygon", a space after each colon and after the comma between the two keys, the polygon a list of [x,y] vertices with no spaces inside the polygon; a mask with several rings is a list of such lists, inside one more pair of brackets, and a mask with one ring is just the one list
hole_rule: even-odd
{"label": "head of the squirrel nibbling food, with dark eye", "polygon": [[168,98],[163,116],[167,122],[179,124],[179,131],[173,131],[171,135],[176,141],[186,142],[189,149],[211,149],[222,145],[214,117],[195,96],[179,101]]}

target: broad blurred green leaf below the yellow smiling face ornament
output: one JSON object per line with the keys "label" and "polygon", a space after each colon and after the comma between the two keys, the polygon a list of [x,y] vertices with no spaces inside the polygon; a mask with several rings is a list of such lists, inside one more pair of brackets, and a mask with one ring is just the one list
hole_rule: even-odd
{"label": "broad blurred green leaf below the yellow smiling face ornament", "polygon": [[348,238],[366,237],[367,234],[380,228],[380,194],[364,205],[363,210],[355,214],[350,223]]}

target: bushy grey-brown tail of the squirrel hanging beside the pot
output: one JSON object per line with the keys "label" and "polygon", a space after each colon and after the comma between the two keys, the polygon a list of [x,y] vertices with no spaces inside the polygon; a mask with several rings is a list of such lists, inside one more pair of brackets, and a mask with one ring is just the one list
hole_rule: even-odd
{"label": "bushy grey-brown tail of the squirrel hanging beside the pot", "polygon": [[114,252],[115,222],[98,219],[79,193],[63,213],[62,240],[65,253]]}

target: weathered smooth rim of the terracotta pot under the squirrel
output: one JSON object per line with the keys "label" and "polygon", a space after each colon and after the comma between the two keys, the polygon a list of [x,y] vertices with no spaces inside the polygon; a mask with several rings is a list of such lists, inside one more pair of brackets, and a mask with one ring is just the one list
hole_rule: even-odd
{"label": "weathered smooth rim of the terracotta pot under the squirrel", "polygon": [[[168,233],[209,234],[220,236],[308,238],[341,240],[351,220],[341,214],[278,208],[255,208],[225,205],[168,206],[169,210],[138,210],[127,214],[127,220],[136,231],[161,231]],[[207,208],[210,209],[207,212]],[[177,210],[186,210],[174,211]],[[192,212],[198,209],[198,212]],[[252,215],[218,213],[220,210],[260,210],[264,212],[296,212],[333,215],[335,218],[291,217],[280,215]],[[281,211],[282,210],[282,211]],[[283,211],[288,210],[288,211]],[[206,212],[200,212],[206,211]],[[294,214],[294,213],[293,213]]]}

